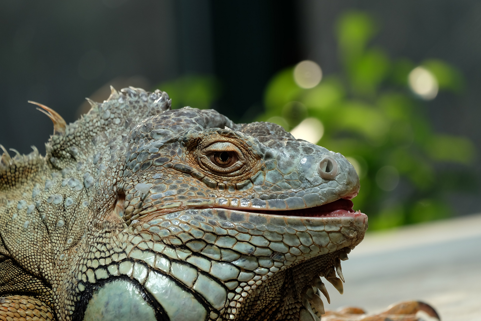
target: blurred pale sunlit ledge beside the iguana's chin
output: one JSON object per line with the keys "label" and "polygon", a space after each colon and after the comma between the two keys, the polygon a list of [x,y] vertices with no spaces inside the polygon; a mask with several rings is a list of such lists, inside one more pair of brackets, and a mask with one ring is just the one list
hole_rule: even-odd
{"label": "blurred pale sunlit ledge beside the iguana's chin", "polygon": [[405,300],[432,305],[443,321],[481,320],[481,215],[367,233],[342,262],[344,295],[331,304],[377,312]]}

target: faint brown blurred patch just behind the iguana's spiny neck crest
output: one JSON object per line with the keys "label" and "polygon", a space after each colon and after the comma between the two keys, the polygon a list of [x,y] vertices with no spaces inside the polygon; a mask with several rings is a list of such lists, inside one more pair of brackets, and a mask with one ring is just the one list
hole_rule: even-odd
{"label": "faint brown blurred patch just behind the iguana's spiny neck crest", "polygon": [[[92,93],[89,98],[94,102],[103,102],[110,96],[110,86],[114,86],[116,90],[121,90],[122,88],[127,88],[129,86],[149,90],[150,82],[146,77],[142,76],[116,77]],[[76,118],[78,119],[80,116],[87,114],[90,108],[91,106],[89,102],[84,101],[77,109]]]}

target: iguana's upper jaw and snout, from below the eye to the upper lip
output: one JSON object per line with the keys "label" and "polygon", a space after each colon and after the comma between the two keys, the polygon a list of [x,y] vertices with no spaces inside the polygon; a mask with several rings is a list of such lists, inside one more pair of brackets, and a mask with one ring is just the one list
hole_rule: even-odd
{"label": "iguana's upper jaw and snout, from below the eye to the upper lip", "polygon": [[[254,148],[257,145],[252,146]],[[322,147],[309,146],[306,145],[306,148],[317,151],[309,155],[293,152],[279,154],[274,151],[269,154],[258,151],[258,154],[264,157],[258,161],[261,166],[255,167],[258,169],[253,169],[252,175],[242,177],[240,182],[229,178],[231,184],[212,180],[196,168],[195,164],[189,163],[190,166],[187,166],[169,158],[170,161],[164,165],[156,165],[157,168],[148,173],[149,177],[145,182],[126,186],[126,203],[132,204],[126,204],[124,220],[129,225],[136,219],[144,221],[152,216],[191,208],[298,210],[324,205],[340,198],[352,199],[357,195],[359,178],[347,159]],[[326,176],[325,169],[320,167],[326,160],[335,165],[336,175]],[[162,176],[169,173],[178,176],[183,173],[185,182],[203,192],[202,195],[201,192],[189,192],[190,195],[187,195],[186,188],[169,189],[168,184],[173,183]],[[180,192],[182,190],[183,192]],[[136,203],[133,203],[134,200]]]}

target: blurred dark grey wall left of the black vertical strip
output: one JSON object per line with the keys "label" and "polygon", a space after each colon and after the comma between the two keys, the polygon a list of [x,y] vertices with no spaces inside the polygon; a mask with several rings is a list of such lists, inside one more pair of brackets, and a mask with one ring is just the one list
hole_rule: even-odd
{"label": "blurred dark grey wall left of the black vertical strip", "polygon": [[171,0],[0,1],[0,143],[44,151],[43,103],[68,122],[84,98],[119,76],[179,74]]}

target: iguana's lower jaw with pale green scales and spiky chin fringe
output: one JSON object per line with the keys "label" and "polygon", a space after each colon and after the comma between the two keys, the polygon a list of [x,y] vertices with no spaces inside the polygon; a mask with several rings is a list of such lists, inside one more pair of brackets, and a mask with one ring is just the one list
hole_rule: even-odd
{"label": "iguana's lower jaw with pale green scales and spiky chin fringe", "polygon": [[[339,214],[337,211],[341,211],[342,215],[336,215]],[[367,229],[367,216],[342,209],[329,212],[331,216],[318,217],[288,216],[277,213],[270,211],[266,214],[226,208],[180,210],[149,221],[136,222],[129,228],[129,230],[131,229],[129,233],[151,233],[154,231],[151,229],[152,226],[157,226],[159,229],[155,233],[162,235],[163,242],[166,244],[165,248],[172,249],[174,253],[175,248],[169,244],[179,245],[173,242],[180,241],[181,234],[184,236],[190,234],[194,239],[204,239],[204,236],[212,235],[223,236],[218,239],[214,238],[210,242],[212,245],[209,246],[211,248],[218,246],[221,250],[238,251],[240,255],[239,258],[232,261],[232,259],[221,257],[219,251],[219,257],[216,257],[215,260],[223,261],[223,265],[242,269],[251,273],[252,276],[255,274],[258,278],[275,276],[277,272],[282,273],[282,270],[289,268],[293,268],[292,276],[304,276],[303,282],[294,280],[296,285],[293,293],[295,300],[310,313],[308,311],[309,304],[312,300],[317,299],[315,293],[311,293],[312,287],[322,288],[319,276],[323,276],[326,281],[331,282],[342,291],[342,281],[336,277],[336,271],[341,272],[340,260],[347,258],[348,251],[346,250],[354,248],[363,239]],[[166,224],[167,222],[168,224]],[[188,230],[186,225],[191,228]],[[184,228],[183,226],[185,230],[180,229]],[[201,230],[202,235],[197,235]],[[231,237],[237,238],[238,244],[244,247],[237,248],[235,245],[222,243],[225,242],[224,239]],[[260,244],[259,240],[264,238],[266,243]],[[252,250],[245,252],[245,245],[249,244],[255,246],[253,245]],[[192,255],[199,254],[193,253]],[[261,259],[264,262],[263,266],[271,266],[271,268],[261,272],[257,265],[250,266],[250,262],[253,260],[260,262]],[[265,264],[266,261],[270,261],[270,264]],[[273,268],[276,270],[272,270]],[[260,266],[259,269],[261,269]],[[269,273],[266,275],[266,272]],[[338,274],[342,279],[342,272]],[[266,280],[268,279],[266,277]],[[256,280],[258,279],[254,281]],[[264,281],[264,278],[262,280]],[[246,282],[246,280],[239,280],[239,282]],[[238,286],[243,287],[244,285],[239,283]],[[257,287],[258,285],[253,286]],[[255,290],[253,286],[251,290]],[[231,290],[234,291],[234,289]],[[252,294],[252,291],[248,293],[249,296]],[[313,302],[318,303],[317,301]]]}

